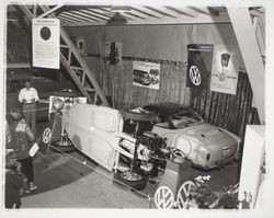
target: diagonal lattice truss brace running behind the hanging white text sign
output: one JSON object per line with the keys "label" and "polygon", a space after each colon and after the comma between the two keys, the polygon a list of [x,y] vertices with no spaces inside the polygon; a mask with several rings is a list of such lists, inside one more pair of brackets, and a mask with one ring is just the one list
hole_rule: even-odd
{"label": "diagonal lattice truss brace running behind the hanging white text sign", "polygon": [[[36,11],[43,11],[45,16],[56,18],[47,5],[35,5],[31,10],[27,5],[19,4],[19,8],[24,12],[28,19],[28,24],[32,19],[36,18]],[[42,14],[43,15],[43,14]],[[39,18],[42,16],[39,15]],[[65,30],[60,26],[60,60],[66,68],[78,89],[83,96],[87,97],[88,103],[109,106],[109,102],[95,80],[95,76],[91,72],[85,61],[79,54],[78,49],[70,41]]]}

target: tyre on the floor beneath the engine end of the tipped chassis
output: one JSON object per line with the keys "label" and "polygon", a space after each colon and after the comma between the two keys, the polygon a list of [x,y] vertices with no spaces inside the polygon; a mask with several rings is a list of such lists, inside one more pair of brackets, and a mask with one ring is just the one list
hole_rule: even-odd
{"label": "tyre on the floor beneath the engine end of the tipped chassis", "polygon": [[147,186],[147,180],[138,173],[130,173],[129,171],[114,173],[114,182],[129,186],[133,190],[144,190]]}

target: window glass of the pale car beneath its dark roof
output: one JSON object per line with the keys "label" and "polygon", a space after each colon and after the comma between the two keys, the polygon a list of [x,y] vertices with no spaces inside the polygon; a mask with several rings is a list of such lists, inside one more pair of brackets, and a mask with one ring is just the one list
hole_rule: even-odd
{"label": "window glass of the pale car beneath its dark roof", "polygon": [[182,110],[164,118],[159,116],[156,125],[162,128],[179,129],[196,125],[201,122],[203,122],[203,118],[195,112]]}

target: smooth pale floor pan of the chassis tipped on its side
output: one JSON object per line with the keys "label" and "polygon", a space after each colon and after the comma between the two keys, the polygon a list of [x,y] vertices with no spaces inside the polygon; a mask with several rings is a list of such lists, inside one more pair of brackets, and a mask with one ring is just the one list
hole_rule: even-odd
{"label": "smooth pale floor pan of the chassis tipped on its side", "polygon": [[95,162],[112,170],[121,129],[118,111],[91,104],[77,104],[70,108],[69,138],[73,145]]}

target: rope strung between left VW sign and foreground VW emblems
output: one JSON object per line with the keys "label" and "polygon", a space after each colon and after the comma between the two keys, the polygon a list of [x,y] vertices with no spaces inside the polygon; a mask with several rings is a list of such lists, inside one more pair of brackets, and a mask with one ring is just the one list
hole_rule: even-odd
{"label": "rope strung between left VW sign and foreground VW emblems", "polygon": [[50,147],[50,148],[53,148],[54,150],[57,150],[58,152],[60,152],[60,153],[62,153],[62,154],[65,154],[65,156],[71,158],[72,160],[79,162],[80,164],[83,164],[83,165],[88,167],[89,169],[91,169],[91,170],[98,172],[99,174],[101,174],[101,175],[103,175],[103,176],[105,176],[105,177],[107,177],[107,179],[110,179],[110,180],[112,180],[112,181],[115,181],[115,182],[117,182],[117,183],[119,183],[119,184],[122,184],[122,185],[128,187],[129,190],[132,190],[132,191],[134,191],[134,192],[140,194],[141,196],[148,198],[149,204],[151,204],[151,203],[150,203],[150,202],[151,202],[151,200],[150,200],[150,198],[151,198],[151,195],[150,195],[150,194],[147,195],[147,194],[145,194],[145,193],[142,193],[142,192],[140,192],[140,191],[138,191],[138,190],[136,190],[136,188],[134,188],[134,187],[132,187],[132,186],[129,186],[129,185],[127,185],[127,184],[125,184],[125,183],[123,183],[123,182],[121,182],[121,181],[118,181],[118,180],[116,180],[116,179],[110,176],[110,175],[107,175],[106,173],[104,173],[104,172],[98,170],[96,168],[93,168],[93,167],[87,164],[85,161],[82,162],[82,161],[80,161],[79,159],[75,158],[73,156],[71,156],[71,154],[69,154],[69,153],[66,153],[66,152],[61,151],[60,149],[56,148],[55,146],[52,146],[50,144],[47,144],[47,146]]}

